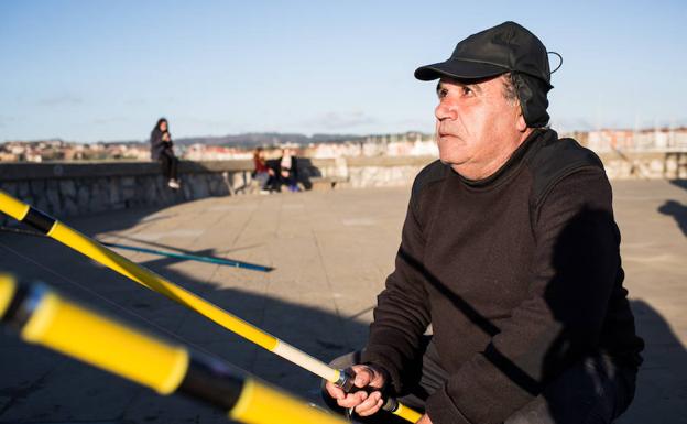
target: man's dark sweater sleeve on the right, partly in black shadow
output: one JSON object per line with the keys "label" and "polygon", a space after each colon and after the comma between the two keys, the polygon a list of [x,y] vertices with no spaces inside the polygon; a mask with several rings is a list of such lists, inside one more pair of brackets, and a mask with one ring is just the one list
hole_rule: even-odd
{"label": "man's dark sweater sleeve on the right, partly in black shadow", "polygon": [[435,424],[502,423],[598,347],[620,271],[611,188],[600,168],[557,183],[535,208],[527,297],[487,348],[427,400]]}

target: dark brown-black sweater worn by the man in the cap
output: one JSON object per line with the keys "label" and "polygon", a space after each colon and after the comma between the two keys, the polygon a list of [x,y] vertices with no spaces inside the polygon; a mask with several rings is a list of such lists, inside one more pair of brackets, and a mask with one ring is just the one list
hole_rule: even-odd
{"label": "dark brown-black sweater worn by the man in the cap", "polygon": [[501,423],[588,355],[639,367],[619,243],[601,161],[575,140],[535,130],[481,181],[436,161],[413,185],[363,361],[403,393],[432,324],[450,376],[426,403],[435,424]]}

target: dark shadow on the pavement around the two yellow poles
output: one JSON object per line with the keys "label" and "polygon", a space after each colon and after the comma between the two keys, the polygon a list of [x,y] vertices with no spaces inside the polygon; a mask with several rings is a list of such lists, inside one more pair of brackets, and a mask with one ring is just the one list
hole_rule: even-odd
{"label": "dark shadow on the pavement around the two yellow poles", "polygon": [[[301,399],[319,402],[319,379],[308,371],[253,346],[161,294],[92,264],[79,253],[47,246],[55,244],[52,240],[13,241],[12,246],[0,243],[0,270],[47,282],[84,305],[232,363]],[[52,257],[36,254],[39,250],[52,249],[55,249]],[[248,290],[218,289],[172,269],[177,261],[163,258],[141,264],[316,358],[329,361],[352,350],[352,346],[340,341],[345,338],[332,331],[342,328],[337,315]],[[69,267],[65,269],[64,263]],[[347,322],[344,326],[349,335],[363,334],[367,328],[357,322]],[[364,339],[351,343],[359,346]],[[92,421],[228,422],[220,411],[181,396],[159,396],[151,390],[43,348],[24,345],[15,335],[0,331],[0,423]]]}

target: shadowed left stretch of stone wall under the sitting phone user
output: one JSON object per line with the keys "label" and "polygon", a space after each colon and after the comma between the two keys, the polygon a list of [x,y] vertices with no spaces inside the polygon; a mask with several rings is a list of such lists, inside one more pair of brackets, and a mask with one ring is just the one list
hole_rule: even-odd
{"label": "shadowed left stretch of stone wall under the sitting phone user", "polygon": [[[0,188],[64,217],[235,194],[250,186],[251,168],[251,161],[181,162],[182,188],[173,191],[151,162],[6,163]],[[0,224],[7,222],[0,214]]]}

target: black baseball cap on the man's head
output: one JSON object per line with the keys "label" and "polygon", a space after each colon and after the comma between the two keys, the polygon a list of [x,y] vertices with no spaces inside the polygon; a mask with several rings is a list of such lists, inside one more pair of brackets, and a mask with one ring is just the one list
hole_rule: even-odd
{"label": "black baseball cap on the man's head", "polygon": [[546,47],[536,35],[511,21],[470,35],[456,45],[447,61],[417,68],[415,77],[481,79],[509,72],[533,76],[552,88]]}

